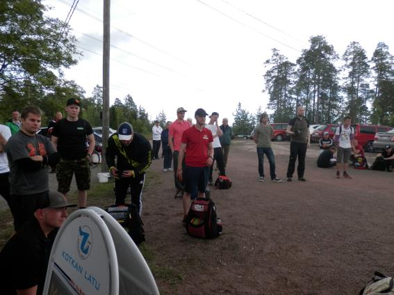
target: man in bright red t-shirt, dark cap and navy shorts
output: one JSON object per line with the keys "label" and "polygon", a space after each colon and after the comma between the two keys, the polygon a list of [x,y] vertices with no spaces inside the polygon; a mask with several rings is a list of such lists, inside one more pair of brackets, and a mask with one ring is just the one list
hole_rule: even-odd
{"label": "man in bright red t-shirt, dark cap and navy shorts", "polygon": [[183,193],[183,221],[190,207],[190,194],[198,189],[198,197],[205,198],[206,185],[208,184],[209,167],[213,163],[213,136],[212,132],[204,127],[205,117],[208,115],[204,109],[195,111],[196,124],[183,131],[181,148],[179,150],[178,162],[181,163],[186,153],[185,170],[182,166],[177,168],[177,177],[185,182]]}

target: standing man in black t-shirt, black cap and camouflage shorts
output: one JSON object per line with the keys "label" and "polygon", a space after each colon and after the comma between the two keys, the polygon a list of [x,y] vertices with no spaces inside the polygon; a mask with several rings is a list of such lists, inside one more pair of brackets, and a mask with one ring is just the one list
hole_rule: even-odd
{"label": "standing man in black t-shirt, black cap and camouflage shorts", "polygon": [[[58,191],[66,196],[72,175],[75,174],[78,205],[80,208],[85,208],[88,189],[90,189],[89,161],[95,149],[95,136],[90,123],[78,118],[79,99],[68,99],[65,111],[67,118],[56,122],[51,138],[61,158],[60,163],[56,166]],[[88,141],[89,148],[86,148],[86,141]]]}

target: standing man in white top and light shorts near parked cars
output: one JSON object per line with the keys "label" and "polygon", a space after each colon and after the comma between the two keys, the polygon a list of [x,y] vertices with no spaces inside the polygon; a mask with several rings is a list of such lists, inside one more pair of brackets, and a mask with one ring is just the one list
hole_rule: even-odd
{"label": "standing man in white top and light shorts near parked cars", "polygon": [[336,158],[336,178],[340,178],[340,168],[343,168],[343,177],[351,179],[347,174],[347,167],[350,154],[352,154],[352,139],[354,138],[353,128],[350,126],[352,118],[346,116],[343,120],[343,125],[336,128],[334,142],[338,145],[338,152]]}

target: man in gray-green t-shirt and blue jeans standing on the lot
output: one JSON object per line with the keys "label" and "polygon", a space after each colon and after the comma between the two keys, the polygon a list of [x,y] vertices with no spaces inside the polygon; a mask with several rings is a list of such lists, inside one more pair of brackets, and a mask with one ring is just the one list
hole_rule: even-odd
{"label": "man in gray-green t-shirt and blue jeans standing on the lot", "polygon": [[260,118],[260,124],[254,128],[254,142],[256,143],[258,158],[258,181],[264,181],[264,154],[270,163],[270,176],[272,182],[282,182],[275,174],[275,157],[271,148],[271,140],[274,129],[268,124],[268,115],[263,113]]}

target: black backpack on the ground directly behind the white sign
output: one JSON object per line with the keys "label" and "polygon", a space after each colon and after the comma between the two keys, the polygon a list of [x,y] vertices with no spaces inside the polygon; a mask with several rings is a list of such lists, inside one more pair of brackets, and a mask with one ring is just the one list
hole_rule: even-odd
{"label": "black backpack on the ground directly behind the white sign", "polygon": [[127,229],[131,239],[136,245],[145,241],[144,223],[142,223],[137,206],[131,205],[112,205],[104,209],[110,216]]}

